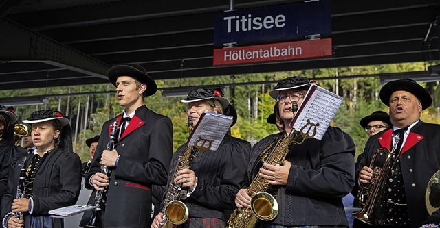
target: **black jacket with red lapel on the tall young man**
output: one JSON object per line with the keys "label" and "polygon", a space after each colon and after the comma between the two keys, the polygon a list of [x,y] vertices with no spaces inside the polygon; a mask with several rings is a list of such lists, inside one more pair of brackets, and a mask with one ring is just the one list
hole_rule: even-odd
{"label": "black jacket with red lapel on the tall young man", "polygon": [[[118,123],[122,115],[116,116]],[[104,123],[98,147],[87,174],[89,179],[100,171],[100,157],[109,141],[111,124]],[[118,166],[113,168],[104,213],[104,227],[147,227],[151,215],[151,186],[164,186],[173,156],[173,125],[170,118],[148,110],[145,105],[135,110],[116,150]],[[94,204],[94,194],[89,204]]]}

